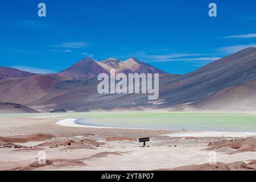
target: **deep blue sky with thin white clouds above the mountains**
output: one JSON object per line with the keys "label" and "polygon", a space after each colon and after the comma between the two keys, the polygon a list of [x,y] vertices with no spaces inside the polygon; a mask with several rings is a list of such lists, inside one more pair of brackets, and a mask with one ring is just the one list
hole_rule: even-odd
{"label": "deep blue sky with thin white clouds above the mountains", "polygon": [[[38,16],[40,2],[46,18]],[[210,2],[217,18],[208,16]],[[255,0],[2,0],[0,66],[49,73],[88,56],[136,57],[187,73],[256,47],[255,7]]]}

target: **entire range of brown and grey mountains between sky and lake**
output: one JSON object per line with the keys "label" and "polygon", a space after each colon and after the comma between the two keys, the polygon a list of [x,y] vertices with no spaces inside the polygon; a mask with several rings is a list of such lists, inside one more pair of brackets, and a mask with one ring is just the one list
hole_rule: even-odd
{"label": "entire range of brown and grey mountains between sky and lake", "polygon": [[[145,94],[98,94],[97,76],[109,74],[110,69],[125,74],[160,73],[159,100],[148,101]],[[39,111],[256,110],[254,47],[185,75],[170,75],[133,57],[101,62],[86,58],[58,74],[35,75],[13,68],[2,68],[0,74],[9,75],[0,78],[0,102],[22,104]]]}

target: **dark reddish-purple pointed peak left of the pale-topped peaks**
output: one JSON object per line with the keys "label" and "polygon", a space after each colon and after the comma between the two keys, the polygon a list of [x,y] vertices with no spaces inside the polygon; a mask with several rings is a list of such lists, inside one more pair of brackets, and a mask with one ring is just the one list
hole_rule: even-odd
{"label": "dark reddish-purple pointed peak left of the pale-topped peaks", "polygon": [[90,59],[89,57],[81,60],[79,63],[72,65],[72,67],[58,73],[60,76],[68,78],[97,78],[100,73],[107,73],[105,68],[98,64],[98,61]]}

